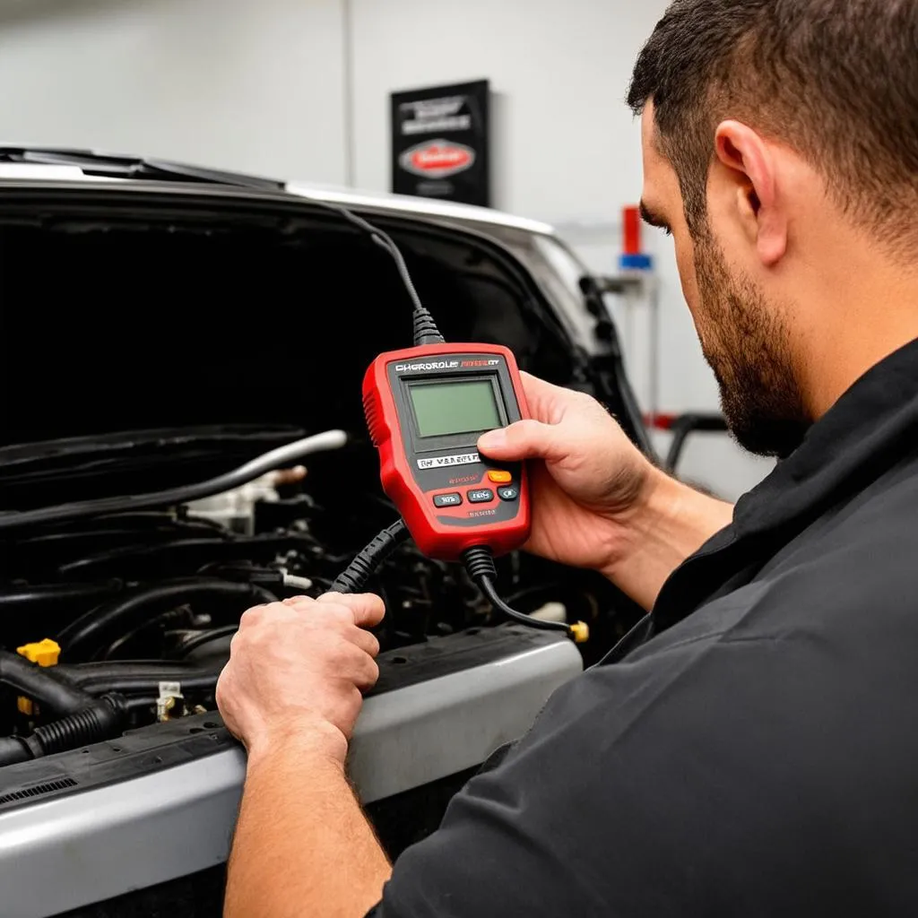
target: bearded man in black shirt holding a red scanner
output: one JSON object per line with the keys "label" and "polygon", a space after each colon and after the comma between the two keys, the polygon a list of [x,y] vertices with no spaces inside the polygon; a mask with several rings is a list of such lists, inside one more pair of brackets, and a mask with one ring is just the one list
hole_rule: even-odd
{"label": "bearded man in black shirt holding a red scanner", "polygon": [[645,216],[735,437],[783,461],[731,508],[527,379],[535,420],[479,445],[533,462],[530,550],[651,625],[390,868],[343,773],[382,603],[247,612],[227,915],[918,913],[916,49],[916,0],[670,7],[629,100]]}

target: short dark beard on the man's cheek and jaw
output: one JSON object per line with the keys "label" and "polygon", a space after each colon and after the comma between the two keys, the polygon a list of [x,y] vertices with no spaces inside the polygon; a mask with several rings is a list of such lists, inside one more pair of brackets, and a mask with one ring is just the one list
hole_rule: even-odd
{"label": "short dark beard on the man's cheek and jaw", "polygon": [[789,331],[753,280],[732,276],[710,237],[696,241],[701,350],[721,389],[736,441],[750,453],[784,457],[810,426],[793,371]]}

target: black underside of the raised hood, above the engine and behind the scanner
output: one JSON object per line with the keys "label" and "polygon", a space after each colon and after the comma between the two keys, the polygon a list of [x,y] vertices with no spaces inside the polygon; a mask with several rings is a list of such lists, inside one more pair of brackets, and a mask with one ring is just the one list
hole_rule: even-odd
{"label": "black underside of the raised hood, above the engine and behind the scanner", "polygon": [[[381,218],[448,341],[576,355],[508,252]],[[304,432],[363,434],[360,383],[410,341],[391,260],[282,195],[19,193],[0,206],[0,508],[170,487]]]}

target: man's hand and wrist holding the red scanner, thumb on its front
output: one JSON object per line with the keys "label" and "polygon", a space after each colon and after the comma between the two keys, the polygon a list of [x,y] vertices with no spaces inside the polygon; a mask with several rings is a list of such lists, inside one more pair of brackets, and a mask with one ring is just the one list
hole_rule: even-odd
{"label": "man's hand and wrist holding the red scanner, thumb on its front", "polygon": [[527,549],[600,570],[650,609],[666,577],[733,508],[657,469],[596,399],[525,373],[522,383],[532,420],[483,434],[478,449],[536,460]]}

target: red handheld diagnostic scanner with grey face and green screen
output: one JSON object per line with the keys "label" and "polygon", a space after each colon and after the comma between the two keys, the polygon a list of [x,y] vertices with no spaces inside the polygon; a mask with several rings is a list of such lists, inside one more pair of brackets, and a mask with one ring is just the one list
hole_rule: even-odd
{"label": "red handheld diagnostic scanner with grey face and green screen", "polygon": [[513,353],[497,344],[426,344],[381,353],[364,375],[367,428],[386,495],[422,554],[457,561],[529,538],[526,467],[478,453],[478,437],[529,417]]}

